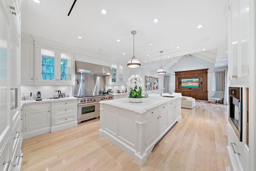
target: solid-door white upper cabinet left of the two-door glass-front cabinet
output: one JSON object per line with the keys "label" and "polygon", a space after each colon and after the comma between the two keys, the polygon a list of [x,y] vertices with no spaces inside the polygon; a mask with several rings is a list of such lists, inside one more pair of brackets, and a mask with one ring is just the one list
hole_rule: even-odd
{"label": "solid-door white upper cabinet left of the two-door glass-front cabinet", "polygon": [[20,81],[22,85],[34,84],[34,44],[21,42],[21,71]]}

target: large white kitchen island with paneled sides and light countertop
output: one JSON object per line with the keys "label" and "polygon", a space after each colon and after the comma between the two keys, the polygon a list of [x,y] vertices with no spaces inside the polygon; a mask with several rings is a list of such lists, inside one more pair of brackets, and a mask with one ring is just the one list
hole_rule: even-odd
{"label": "large white kitchen island with paneled sides and light countertop", "polygon": [[144,165],[154,145],[182,119],[181,97],[150,94],[142,103],[128,98],[100,101],[99,135]]}

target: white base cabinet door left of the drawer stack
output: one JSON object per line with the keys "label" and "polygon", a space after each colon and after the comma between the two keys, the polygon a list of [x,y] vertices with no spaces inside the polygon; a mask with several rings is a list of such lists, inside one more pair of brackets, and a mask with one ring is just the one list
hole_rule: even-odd
{"label": "white base cabinet door left of the drawer stack", "polygon": [[23,115],[25,115],[24,139],[50,132],[50,102],[26,104],[23,109]]}

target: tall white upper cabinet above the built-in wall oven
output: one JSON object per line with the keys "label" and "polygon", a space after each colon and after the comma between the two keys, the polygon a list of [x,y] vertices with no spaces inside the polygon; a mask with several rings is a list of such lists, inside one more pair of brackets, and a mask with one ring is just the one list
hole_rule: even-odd
{"label": "tall white upper cabinet above the built-in wall oven", "polygon": [[249,82],[249,0],[231,0],[228,69],[230,85]]}

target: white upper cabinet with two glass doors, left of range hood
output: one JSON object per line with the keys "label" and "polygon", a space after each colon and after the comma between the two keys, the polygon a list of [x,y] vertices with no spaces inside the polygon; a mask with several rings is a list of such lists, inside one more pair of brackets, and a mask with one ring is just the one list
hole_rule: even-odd
{"label": "white upper cabinet with two glass doors, left of range hood", "polygon": [[36,46],[36,84],[72,85],[74,84],[74,54]]}

